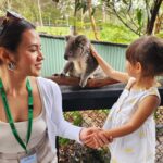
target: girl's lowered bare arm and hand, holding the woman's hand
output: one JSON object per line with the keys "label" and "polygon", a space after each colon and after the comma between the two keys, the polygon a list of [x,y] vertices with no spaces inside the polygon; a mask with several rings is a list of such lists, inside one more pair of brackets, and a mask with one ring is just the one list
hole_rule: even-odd
{"label": "girl's lowered bare arm and hand, holding the woman's hand", "polygon": [[128,134],[131,134],[145,123],[145,121],[158,108],[159,103],[160,103],[160,100],[158,99],[156,96],[148,96],[141,101],[138,110],[130,117],[130,121],[128,123],[124,124],[121,127],[95,133],[93,135],[90,135],[85,139],[85,143],[91,148],[99,148],[102,146],[99,146],[100,143],[97,146],[95,142],[92,142],[92,139],[96,141],[99,141],[99,140],[101,141],[103,137],[108,139],[110,138],[114,139],[117,137],[123,137]]}

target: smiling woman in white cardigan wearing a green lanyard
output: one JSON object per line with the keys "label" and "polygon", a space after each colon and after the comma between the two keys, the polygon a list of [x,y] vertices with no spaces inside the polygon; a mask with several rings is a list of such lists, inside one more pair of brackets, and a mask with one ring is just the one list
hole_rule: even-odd
{"label": "smiling woman in white cardigan wearing a green lanyard", "polygon": [[57,135],[80,142],[96,130],[64,121],[59,86],[38,77],[42,60],[34,25],[8,12],[0,25],[1,163],[55,163]]}

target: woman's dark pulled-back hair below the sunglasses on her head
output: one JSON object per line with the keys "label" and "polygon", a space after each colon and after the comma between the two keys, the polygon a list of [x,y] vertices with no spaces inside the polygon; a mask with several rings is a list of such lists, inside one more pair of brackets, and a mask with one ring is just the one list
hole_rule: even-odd
{"label": "woman's dark pulled-back hair below the sunglasses on her head", "polygon": [[22,35],[27,29],[35,29],[35,26],[25,20],[9,22],[0,35],[0,47],[16,52]]}

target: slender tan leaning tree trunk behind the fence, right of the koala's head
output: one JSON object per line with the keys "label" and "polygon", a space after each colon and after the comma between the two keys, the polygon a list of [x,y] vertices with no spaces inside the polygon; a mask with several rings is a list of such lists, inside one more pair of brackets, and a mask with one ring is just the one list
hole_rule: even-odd
{"label": "slender tan leaning tree trunk behind the fence, right of the koala's head", "polygon": [[90,17],[90,22],[91,22],[91,27],[92,27],[92,30],[93,30],[93,34],[95,34],[95,38],[96,40],[99,40],[98,38],[98,32],[97,32],[97,28],[96,28],[96,22],[95,22],[95,18],[93,18],[93,15],[91,14],[91,0],[88,0],[88,11],[89,11],[89,17]]}

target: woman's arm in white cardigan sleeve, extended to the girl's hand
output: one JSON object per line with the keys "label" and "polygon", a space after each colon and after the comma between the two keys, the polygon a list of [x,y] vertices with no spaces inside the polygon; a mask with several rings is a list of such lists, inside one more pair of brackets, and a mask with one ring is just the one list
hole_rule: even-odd
{"label": "woman's arm in white cardigan sleeve, extended to the girl's hand", "polygon": [[[75,126],[64,120],[63,111],[62,111],[62,95],[61,95],[61,90],[58,85],[55,85],[53,87],[53,99],[52,100],[53,100],[53,102],[52,102],[53,103],[52,122],[57,126],[57,130],[58,130],[57,135],[58,136],[73,139],[78,142],[80,142],[80,141],[83,142],[83,140],[88,135],[91,135],[92,133],[96,133],[99,130],[99,128],[96,128],[96,127],[89,127],[89,128],[78,127],[78,126]],[[102,140],[103,140],[102,141],[103,145],[112,141],[112,139],[106,139],[105,137],[103,137]],[[95,142],[95,143],[97,143],[97,142]]]}

